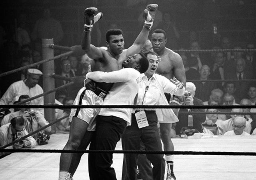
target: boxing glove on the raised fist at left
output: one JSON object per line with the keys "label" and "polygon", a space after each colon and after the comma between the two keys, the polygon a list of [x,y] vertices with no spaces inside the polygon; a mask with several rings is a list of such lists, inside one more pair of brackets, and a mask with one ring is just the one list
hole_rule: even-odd
{"label": "boxing glove on the raised fist at left", "polygon": [[84,31],[91,31],[93,24],[102,17],[102,12],[98,12],[97,8],[86,8],[84,10]]}

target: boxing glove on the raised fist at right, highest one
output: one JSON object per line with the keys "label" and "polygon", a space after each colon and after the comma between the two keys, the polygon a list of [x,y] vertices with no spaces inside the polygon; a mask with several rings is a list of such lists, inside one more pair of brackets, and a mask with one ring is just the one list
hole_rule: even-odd
{"label": "boxing glove on the raised fist at right, highest one", "polygon": [[150,30],[153,25],[153,20],[156,16],[156,10],[158,8],[157,4],[148,4],[146,9],[144,10],[142,16],[145,20],[144,28]]}

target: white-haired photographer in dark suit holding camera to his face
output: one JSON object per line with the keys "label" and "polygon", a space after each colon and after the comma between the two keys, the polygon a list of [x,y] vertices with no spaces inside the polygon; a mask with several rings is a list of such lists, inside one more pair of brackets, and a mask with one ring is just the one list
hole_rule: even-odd
{"label": "white-haired photographer in dark suit holding camera to his face", "polygon": [[[184,92],[185,105],[204,105],[202,100],[195,98],[196,86],[192,82],[186,83],[186,88]],[[204,112],[204,109],[180,109],[180,112]],[[202,123],[205,121],[205,115],[199,114],[185,114],[179,113],[179,122],[176,123],[176,134],[180,134],[182,127],[194,127],[200,133],[203,132]]]}

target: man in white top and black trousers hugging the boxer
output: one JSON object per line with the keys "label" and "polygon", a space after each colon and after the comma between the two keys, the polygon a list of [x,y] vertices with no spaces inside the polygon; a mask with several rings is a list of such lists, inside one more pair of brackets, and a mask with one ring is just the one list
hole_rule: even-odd
{"label": "man in white top and black trousers hugging the boxer", "polygon": [[[148,69],[148,60],[139,53],[127,58],[125,68],[112,72],[88,72],[86,78],[96,82],[114,82],[104,99],[103,105],[130,105],[136,103],[140,73]],[[129,68],[131,67],[131,68]],[[136,69],[136,70],[135,70]],[[114,150],[127,125],[131,124],[130,108],[103,108],[97,116],[96,132],[90,149]],[[88,155],[89,175],[91,180],[116,180],[114,168],[111,168],[111,153],[93,153]]]}

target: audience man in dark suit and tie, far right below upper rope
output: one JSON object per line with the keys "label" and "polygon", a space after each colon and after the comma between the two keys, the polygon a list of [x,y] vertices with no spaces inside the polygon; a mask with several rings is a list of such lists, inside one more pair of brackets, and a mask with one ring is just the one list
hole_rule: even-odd
{"label": "audience man in dark suit and tie, far right below upper rope", "polygon": [[[227,73],[227,78],[238,80],[252,79],[253,74],[245,70],[245,60],[240,58],[236,61],[236,68]],[[249,84],[250,82],[236,82],[235,96],[238,98],[238,102],[247,97]]]}

